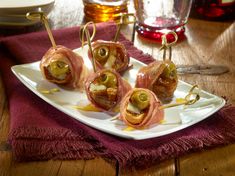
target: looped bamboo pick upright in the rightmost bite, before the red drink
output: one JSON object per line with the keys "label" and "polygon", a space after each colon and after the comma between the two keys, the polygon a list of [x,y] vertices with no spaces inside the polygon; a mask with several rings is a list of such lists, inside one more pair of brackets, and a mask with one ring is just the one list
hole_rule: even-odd
{"label": "looped bamboo pick upright in the rightmost bite, before the red drink", "polygon": [[[172,34],[175,38],[173,42],[168,43],[167,35]],[[171,60],[172,56],[172,48],[171,46],[174,45],[178,40],[178,35],[174,31],[170,31],[164,35],[162,35],[162,47],[160,50],[163,50],[163,60],[166,60],[166,50],[169,49],[169,60]]]}

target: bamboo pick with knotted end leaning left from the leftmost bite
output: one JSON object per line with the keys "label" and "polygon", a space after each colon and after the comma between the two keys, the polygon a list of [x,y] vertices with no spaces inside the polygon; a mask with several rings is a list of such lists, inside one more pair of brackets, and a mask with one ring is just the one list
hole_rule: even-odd
{"label": "bamboo pick with knotted end leaning left from the leftmost bite", "polygon": [[32,21],[41,21],[44,24],[44,26],[47,30],[47,33],[48,33],[48,36],[50,38],[52,47],[56,48],[56,43],[55,43],[54,37],[52,35],[51,29],[50,29],[50,26],[49,26],[47,16],[42,11],[28,12],[26,14],[26,18],[29,19],[29,20],[32,20]]}

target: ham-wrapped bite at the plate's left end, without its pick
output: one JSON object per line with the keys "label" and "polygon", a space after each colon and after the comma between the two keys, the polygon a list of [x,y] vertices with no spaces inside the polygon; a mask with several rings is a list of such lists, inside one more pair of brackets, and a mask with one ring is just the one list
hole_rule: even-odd
{"label": "ham-wrapped bite at the plate's left end, without its pick", "polygon": [[83,88],[88,75],[82,57],[60,45],[46,52],[40,69],[48,81],[70,88]]}

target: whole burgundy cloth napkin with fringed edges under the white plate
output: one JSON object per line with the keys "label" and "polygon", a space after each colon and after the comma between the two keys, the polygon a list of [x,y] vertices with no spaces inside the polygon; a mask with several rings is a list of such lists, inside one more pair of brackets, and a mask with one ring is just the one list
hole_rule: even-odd
{"label": "whole burgundy cloth napkin with fringed edges under the white plate", "polygon": [[[97,26],[96,39],[111,40],[113,23]],[[57,44],[78,48],[79,27],[53,31]],[[122,35],[131,57],[145,63],[153,59]],[[51,47],[46,32],[0,40],[0,69],[10,111],[9,142],[18,161],[91,159],[101,156],[121,167],[149,166],[186,153],[235,141],[235,107],[226,106],[210,118],[170,135],[129,140],[90,128],[55,109],[28,90],[11,72],[14,64],[40,60]]]}

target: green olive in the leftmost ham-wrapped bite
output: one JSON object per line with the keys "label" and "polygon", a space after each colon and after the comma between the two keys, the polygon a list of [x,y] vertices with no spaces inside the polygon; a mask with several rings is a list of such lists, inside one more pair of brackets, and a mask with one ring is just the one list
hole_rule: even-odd
{"label": "green olive in the leftmost ham-wrapped bite", "polygon": [[68,64],[61,61],[51,62],[49,67],[51,74],[55,77],[66,74],[69,71]]}

